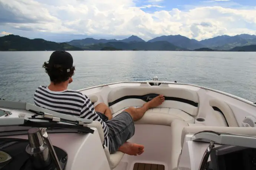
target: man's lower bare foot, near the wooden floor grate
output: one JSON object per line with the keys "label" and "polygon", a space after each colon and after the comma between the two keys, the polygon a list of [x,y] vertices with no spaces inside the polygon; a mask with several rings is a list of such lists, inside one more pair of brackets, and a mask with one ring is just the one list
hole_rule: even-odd
{"label": "man's lower bare foot, near the wooden floor grate", "polygon": [[137,154],[140,155],[144,152],[144,146],[138,145],[136,143],[125,142],[122,146],[118,148],[118,151],[126,153],[128,155],[137,156]]}

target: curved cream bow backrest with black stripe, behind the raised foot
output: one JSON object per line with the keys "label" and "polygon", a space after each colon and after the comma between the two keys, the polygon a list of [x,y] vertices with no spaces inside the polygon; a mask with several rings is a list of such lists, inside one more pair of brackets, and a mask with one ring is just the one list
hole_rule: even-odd
{"label": "curved cream bow backrest with black stripe, behind the raised foot", "polygon": [[117,87],[108,95],[108,104],[112,113],[131,106],[142,106],[147,96],[163,94],[165,102],[160,107],[175,108],[197,116],[199,97],[196,91],[185,88],[158,87]]}

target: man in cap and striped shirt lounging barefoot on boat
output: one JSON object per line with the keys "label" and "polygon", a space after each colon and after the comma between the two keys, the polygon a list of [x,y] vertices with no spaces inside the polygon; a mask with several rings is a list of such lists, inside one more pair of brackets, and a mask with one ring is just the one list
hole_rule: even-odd
{"label": "man in cap and striped shirt lounging barefoot on boat", "polygon": [[39,86],[34,94],[35,105],[54,110],[59,113],[80,118],[99,121],[104,131],[104,145],[110,153],[120,151],[129,155],[140,155],[144,146],[127,142],[135,132],[134,121],[142,118],[144,113],[164,102],[164,96],[159,95],[145,103],[141,108],[128,108],[112,118],[108,106],[99,103],[95,108],[90,99],[81,92],[68,90],[68,84],[73,79],[75,66],[73,58],[66,51],[55,51],[49,62],[43,64],[45,72],[50,77],[50,85]]}

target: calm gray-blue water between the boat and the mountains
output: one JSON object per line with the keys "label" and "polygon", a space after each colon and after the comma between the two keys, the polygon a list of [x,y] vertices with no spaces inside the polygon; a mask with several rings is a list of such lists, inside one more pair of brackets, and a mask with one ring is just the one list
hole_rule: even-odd
{"label": "calm gray-blue water between the boat and the mountains", "polygon": [[[33,103],[34,90],[48,85],[42,68],[52,51],[0,52],[0,98]],[[255,52],[71,51],[77,90],[117,81],[191,83],[256,102]]]}

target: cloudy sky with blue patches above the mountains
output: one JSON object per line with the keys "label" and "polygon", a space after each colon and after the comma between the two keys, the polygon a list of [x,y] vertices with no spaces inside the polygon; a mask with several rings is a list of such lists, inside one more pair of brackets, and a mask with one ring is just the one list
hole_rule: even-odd
{"label": "cloudy sky with blue patches above the mountains", "polygon": [[8,34],[55,42],[256,34],[256,1],[0,0],[0,36]]}

